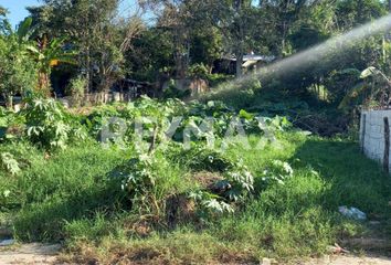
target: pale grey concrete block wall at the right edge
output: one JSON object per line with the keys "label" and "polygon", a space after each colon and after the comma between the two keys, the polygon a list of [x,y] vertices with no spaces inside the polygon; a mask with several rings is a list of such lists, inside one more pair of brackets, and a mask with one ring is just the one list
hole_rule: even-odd
{"label": "pale grey concrete block wall at the right edge", "polygon": [[[385,165],[384,153],[388,152],[390,157],[390,150],[385,149],[384,117],[388,118],[391,130],[391,110],[363,110],[360,123],[360,145],[363,153],[383,166]],[[389,168],[391,168],[391,159],[388,160]]]}

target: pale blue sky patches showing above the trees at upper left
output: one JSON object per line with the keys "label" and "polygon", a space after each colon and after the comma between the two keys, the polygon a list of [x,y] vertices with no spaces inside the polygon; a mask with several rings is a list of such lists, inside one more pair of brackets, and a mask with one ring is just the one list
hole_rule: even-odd
{"label": "pale blue sky patches showing above the trees at upper left", "polygon": [[[123,9],[128,9],[135,4],[136,0],[125,0],[127,2],[126,7],[124,3]],[[29,12],[25,10],[25,7],[39,6],[39,0],[0,0],[0,6],[8,9],[9,14],[7,15],[11,24],[15,26],[21,22],[25,17],[29,15]]]}

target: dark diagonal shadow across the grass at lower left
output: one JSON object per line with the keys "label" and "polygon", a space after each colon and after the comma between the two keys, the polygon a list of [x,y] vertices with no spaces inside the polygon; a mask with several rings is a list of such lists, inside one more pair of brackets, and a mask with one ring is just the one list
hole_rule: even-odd
{"label": "dark diagonal shadow across the grass at lower left", "polygon": [[118,167],[101,177],[95,186],[65,194],[60,189],[43,202],[32,202],[21,209],[13,223],[18,240],[59,242],[66,239],[66,223],[94,220],[97,213],[109,216],[118,209],[128,210],[120,184],[113,179],[117,170]]}

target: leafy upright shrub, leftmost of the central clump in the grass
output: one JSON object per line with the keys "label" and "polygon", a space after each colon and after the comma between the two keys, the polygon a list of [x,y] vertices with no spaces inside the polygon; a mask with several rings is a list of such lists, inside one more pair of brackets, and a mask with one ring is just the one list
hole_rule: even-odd
{"label": "leafy upright shrub, leftmost of the central clump in the grass", "polygon": [[110,173],[121,194],[121,202],[137,214],[161,218],[166,200],[187,190],[187,178],[180,166],[166,159],[163,150],[152,153],[135,151],[129,160]]}

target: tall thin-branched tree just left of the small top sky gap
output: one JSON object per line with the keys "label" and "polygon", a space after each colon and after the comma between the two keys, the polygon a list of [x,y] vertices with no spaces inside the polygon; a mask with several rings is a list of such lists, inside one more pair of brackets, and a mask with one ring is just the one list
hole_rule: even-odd
{"label": "tall thin-branched tree just left of the small top sky gap", "polygon": [[120,76],[123,54],[142,29],[139,14],[128,19],[119,13],[119,0],[44,0],[30,9],[41,33],[67,36],[78,51],[80,72],[88,81],[86,94],[107,91]]}

